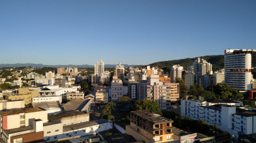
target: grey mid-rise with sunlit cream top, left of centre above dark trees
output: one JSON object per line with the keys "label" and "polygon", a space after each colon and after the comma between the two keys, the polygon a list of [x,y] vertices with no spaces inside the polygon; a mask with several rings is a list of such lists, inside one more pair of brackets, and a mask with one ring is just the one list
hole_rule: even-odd
{"label": "grey mid-rise with sunlit cream top, left of centre above dark trees", "polygon": [[111,101],[117,102],[118,98],[123,96],[123,81],[118,79],[117,76],[113,76],[111,83]]}

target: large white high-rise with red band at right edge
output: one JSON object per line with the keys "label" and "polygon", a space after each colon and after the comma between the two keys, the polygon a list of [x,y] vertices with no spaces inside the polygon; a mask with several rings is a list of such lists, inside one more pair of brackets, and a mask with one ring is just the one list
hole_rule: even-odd
{"label": "large white high-rise with red band at right edge", "polygon": [[251,53],[255,49],[225,49],[225,83],[239,90],[251,90]]}

